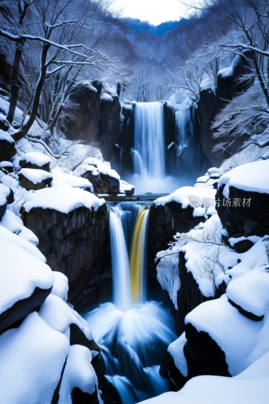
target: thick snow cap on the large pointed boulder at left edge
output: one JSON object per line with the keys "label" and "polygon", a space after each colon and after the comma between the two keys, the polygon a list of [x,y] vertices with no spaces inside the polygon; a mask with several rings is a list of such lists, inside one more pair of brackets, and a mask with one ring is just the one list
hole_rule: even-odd
{"label": "thick snow cap on the large pointed boulder at left edge", "polygon": [[[3,229],[0,226],[1,235]],[[11,233],[11,232],[10,232]],[[11,233],[14,235],[13,233]],[[20,237],[14,235],[20,239]],[[23,239],[20,239],[24,241]],[[33,248],[32,244],[29,243]],[[31,296],[36,287],[49,289],[53,285],[53,273],[42,261],[18,245],[1,237],[0,313],[11,308],[18,300]],[[40,253],[41,254],[41,253]]]}

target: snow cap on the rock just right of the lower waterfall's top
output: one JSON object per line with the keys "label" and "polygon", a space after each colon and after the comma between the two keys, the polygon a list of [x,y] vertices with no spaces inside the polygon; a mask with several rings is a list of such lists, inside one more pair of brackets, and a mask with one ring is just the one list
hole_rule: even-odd
{"label": "snow cap on the rock just right of the lower waterfall's top", "polygon": [[199,207],[207,208],[212,203],[212,202],[210,203],[210,201],[214,200],[215,194],[216,189],[194,188],[192,186],[184,186],[182,188],[178,188],[175,192],[167,196],[162,196],[154,200],[153,204],[156,206],[160,205],[165,206],[166,204],[175,201],[181,204],[183,209],[186,209],[190,205],[190,200],[195,198],[197,200],[197,205]]}

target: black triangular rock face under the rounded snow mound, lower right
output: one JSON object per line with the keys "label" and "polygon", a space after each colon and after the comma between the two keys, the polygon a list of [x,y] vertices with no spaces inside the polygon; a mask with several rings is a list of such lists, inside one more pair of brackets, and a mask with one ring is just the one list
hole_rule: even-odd
{"label": "black triangular rock face under the rounded snow mound, lower right", "polygon": [[231,376],[224,351],[207,332],[199,332],[187,323],[186,339],[184,355],[188,365],[188,380],[200,375]]}

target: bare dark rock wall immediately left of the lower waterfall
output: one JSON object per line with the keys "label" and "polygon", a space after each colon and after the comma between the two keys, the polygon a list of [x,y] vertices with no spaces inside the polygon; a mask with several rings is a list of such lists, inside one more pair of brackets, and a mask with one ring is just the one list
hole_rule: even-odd
{"label": "bare dark rock wall immediately left of the lower waterfall", "polygon": [[109,250],[106,205],[97,212],[80,207],[68,214],[42,208],[22,208],[21,213],[25,226],[38,237],[47,264],[68,277],[68,300],[77,311],[96,304],[103,294],[109,296],[111,274],[104,276]]}

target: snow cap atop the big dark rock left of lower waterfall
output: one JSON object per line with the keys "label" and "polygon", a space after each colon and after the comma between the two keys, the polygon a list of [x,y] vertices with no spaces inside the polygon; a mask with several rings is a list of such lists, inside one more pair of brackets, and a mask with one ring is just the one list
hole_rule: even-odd
{"label": "snow cap atop the big dark rock left of lower waterfall", "polygon": [[62,213],[69,213],[81,206],[95,211],[105,204],[104,199],[99,199],[90,192],[73,187],[43,188],[29,193],[28,199],[23,204],[26,212],[32,208],[55,209]]}

